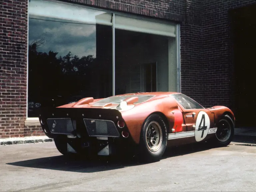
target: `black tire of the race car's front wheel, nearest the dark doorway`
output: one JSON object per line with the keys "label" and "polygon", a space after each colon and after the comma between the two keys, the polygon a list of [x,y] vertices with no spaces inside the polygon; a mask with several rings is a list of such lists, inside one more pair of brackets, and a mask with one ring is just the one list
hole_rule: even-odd
{"label": "black tire of the race car's front wheel, nearest the dark doorway", "polygon": [[[220,131],[221,131],[221,125],[227,125],[229,126],[229,133],[228,136],[225,139],[220,139],[218,137]],[[215,133],[215,136],[210,140],[210,144],[214,147],[226,147],[230,144],[230,142],[233,140],[234,137],[234,123],[229,115],[223,115],[220,119],[220,121],[217,124],[217,132]]]}

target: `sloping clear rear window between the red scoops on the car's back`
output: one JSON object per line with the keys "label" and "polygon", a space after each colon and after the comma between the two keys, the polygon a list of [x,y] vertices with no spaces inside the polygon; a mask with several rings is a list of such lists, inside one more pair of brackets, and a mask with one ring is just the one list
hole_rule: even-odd
{"label": "sloping clear rear window between the red scoops on the car's back", "polygon": [[123,100],[125,100],[127,98],[131,98],[131,97],[138,97],[139,100],[134,103],[134,104],[138,104],[138,103],[142,103],[142,102],[145,102],[145,101],[151,99],[152,97],[154,97],[154,95],[122,95],[122,96],[112,96],[112,97],[108,97],[108,98],[102,99],[100,101],[97,101],[92,106],[101,106],[101,105],[104,105],[106,103],[119,104]]}

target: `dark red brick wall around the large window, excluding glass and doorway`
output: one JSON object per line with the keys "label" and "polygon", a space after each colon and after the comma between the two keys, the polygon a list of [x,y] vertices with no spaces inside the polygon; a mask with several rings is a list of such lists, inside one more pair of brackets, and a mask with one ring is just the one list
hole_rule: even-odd
{"label": "dark red brick wall around the large window, excluding glass and doorway", "polygon": [[[66,0],[181,23],[182,92],[208,107],[230,106],[228,9],[253,0]],[[0,137],[44,135],[26,118],[28,0],[2,0],[0,9]]]}

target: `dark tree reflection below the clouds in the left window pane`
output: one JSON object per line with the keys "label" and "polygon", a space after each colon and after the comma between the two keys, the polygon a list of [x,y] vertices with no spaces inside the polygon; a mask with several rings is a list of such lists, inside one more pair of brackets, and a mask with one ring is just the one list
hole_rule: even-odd
{"label": "dark tree reflection below the clouds in the left window pane", "polygon": [[[72,96],[92,96],[90,79],[96,67],[93,55],[79,58],[68,52],[65,56],[57,56],[58,52],[38,52],[44,45],[44,39],[29,44],[28,67],[28,100],[38,102],[42,106],[50,99],[57,99],[57,105],[72,101]],[[29,115],[30,116],[30,115]]]}

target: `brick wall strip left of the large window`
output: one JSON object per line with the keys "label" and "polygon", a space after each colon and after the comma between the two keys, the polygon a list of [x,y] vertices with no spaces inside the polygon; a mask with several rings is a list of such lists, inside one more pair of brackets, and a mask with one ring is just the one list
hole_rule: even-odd
{"label": "brick wall strip left of the large window", "polygon": [[23,136],[28,2],[2,0],[0,9],[0,137]]}

